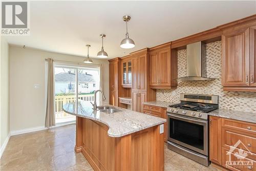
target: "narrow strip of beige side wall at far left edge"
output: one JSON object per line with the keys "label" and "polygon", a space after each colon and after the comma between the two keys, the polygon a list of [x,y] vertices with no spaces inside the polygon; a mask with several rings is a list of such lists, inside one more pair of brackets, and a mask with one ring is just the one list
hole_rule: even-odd
{"label": "narrow strip of beige side wall at far left edge", "polygon": [[1,36],[1,148],[10,132],[9,114],[9,45]]}

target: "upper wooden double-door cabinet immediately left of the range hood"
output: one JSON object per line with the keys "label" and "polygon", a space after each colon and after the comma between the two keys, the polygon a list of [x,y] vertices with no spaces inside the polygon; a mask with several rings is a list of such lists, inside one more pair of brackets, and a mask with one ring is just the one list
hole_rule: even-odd
{"label": "upper wooden double-door cabinet immediately left of the range hood", "polygon": [[[161,89],[177,86],[172,81],[177,76],[177,56],[171,56],[170,45],[154,48],[150,51],[150,87]],[[176,73],[172,73],[176,72]]]}

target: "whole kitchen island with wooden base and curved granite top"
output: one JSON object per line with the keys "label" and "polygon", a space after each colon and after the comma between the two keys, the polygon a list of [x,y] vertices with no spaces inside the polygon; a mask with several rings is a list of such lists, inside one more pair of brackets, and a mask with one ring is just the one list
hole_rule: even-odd
{"label": "whole kitchen island with wooden base and curved granite top", "polygon": [[94,170],[164,170],[160,127],[166,119],[111,105],[105,108],[111,108],[109,113],[93,110],[85,101],[63,105],[63,111],[77,116],[76,153],[81,152]]}

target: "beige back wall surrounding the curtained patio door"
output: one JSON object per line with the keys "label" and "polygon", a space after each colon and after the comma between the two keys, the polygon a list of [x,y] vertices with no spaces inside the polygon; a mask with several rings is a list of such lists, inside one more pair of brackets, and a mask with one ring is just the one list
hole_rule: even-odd
{"label": "beige back wall surrounding the curtained patio door", "polygon": [[[45,125],[46,86],[45,59],[82,62],[83,58],[10,45],[10,116],[11,131]],[[102,64],[102,89],[109,100],[109,62]],[[39,84],[35,89],[34,85]]]}

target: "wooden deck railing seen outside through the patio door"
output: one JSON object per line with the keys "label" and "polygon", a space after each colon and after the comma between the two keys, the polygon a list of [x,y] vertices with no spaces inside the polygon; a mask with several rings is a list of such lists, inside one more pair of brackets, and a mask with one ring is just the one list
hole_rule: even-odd
{"label": "wooden deck railing seen outside through the patio door", "polygon": [[[66,103],[75,102],[75,95],[56,95],[55,96],[55,114],[56,118],[66,116],[67,113],[62,111],[62,106]],[[94,94],[79,94],[78,99],[83,101],[94,101]]]}

